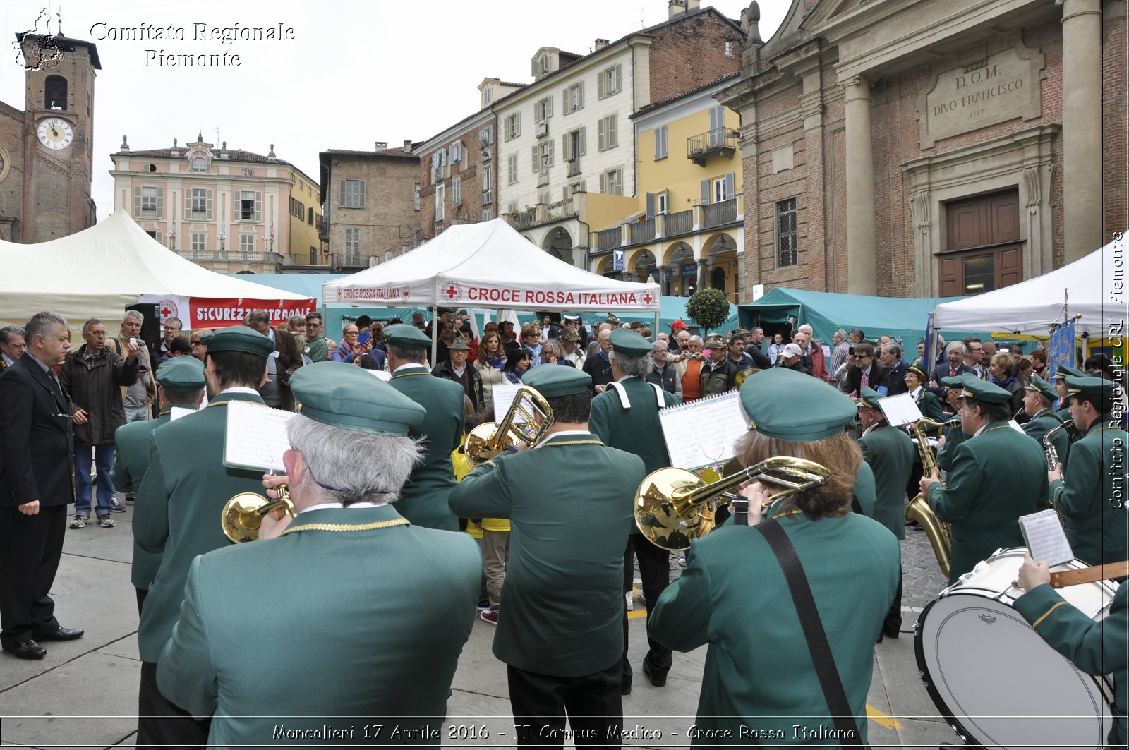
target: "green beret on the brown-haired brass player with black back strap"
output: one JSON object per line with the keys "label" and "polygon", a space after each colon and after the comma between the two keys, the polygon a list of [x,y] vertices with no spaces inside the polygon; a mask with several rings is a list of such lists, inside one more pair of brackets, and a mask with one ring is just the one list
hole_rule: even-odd
{"label": "green beret on the brown-haired brass player with black back strap", "polygon": [[787,367],[773,367],[747,378],[741,386],[741,405],[749,416],[750,429],[793,443],[833,437],[854,425],[858,416],[850,396]]}

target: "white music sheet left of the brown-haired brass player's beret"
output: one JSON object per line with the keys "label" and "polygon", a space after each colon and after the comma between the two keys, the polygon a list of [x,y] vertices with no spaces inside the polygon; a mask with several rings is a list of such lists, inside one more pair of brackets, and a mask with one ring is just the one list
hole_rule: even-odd
{"label": "white music sheet left of the brown-haired brass player's beret", "polygon": [[749,430],[737,391],[659,409],[671,465],[701,469],[736,456],[734,445]]}

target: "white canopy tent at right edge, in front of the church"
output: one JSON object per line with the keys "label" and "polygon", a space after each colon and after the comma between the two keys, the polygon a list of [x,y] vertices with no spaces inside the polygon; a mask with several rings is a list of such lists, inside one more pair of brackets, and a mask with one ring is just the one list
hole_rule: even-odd
{"label": "white canopy tent at right edge, in front of the church", "polygon": [[1115,239],[1089,255],[1034,279],[975,297],[937,305],[937,329],[1047,335],[1056,323],[1077,317],[1079,335],[1105,335],[1124,321],[1126,242]]}

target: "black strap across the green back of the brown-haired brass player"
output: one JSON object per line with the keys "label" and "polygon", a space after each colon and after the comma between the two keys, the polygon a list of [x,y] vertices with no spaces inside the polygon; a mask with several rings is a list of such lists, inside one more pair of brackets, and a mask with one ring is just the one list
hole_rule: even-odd
{"label": "black strap across the green back of the brown-haired brass player", "polygon": [[815,599],[812,596],[812,588],[804,574],[804,566],[799,561],[799,556],[796,555],[796,548],[776,518],[762,521],[754,529],[764,534],[764,540],[772,548],[772,552],[784,569],[784,577],[788,581],[791,600],[796,605],[796,613],[799,616],[799,625],[804,629],[807,647],[812,652],[815,673],[820,678],[823,697],[828,701],[828,708],[835,723],[835,733],[839,735],[840,744],[844,748],[861,747],[863,740],[858,726],[855,724],[855,715],[851,714],[850,704],[847,701],[847,692],[839,678],[839,670],[835,668],[835,660],[831,653],[831,646],[828,644],[823,621],[815,608]]}

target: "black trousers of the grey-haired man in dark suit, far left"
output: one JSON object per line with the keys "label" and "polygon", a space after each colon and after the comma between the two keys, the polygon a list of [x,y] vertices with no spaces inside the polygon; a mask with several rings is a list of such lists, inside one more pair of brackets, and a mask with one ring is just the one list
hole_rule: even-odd
{"label": "black trousers of the grey-haired man in dark suit, far left", "polygon": [[35,515],[0,508],[0,646],[15,648],[35,630],[59,627],[55,582],[67,534],[65,505],[40,506]]}

